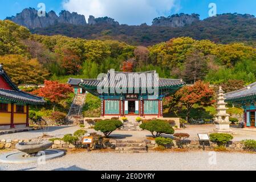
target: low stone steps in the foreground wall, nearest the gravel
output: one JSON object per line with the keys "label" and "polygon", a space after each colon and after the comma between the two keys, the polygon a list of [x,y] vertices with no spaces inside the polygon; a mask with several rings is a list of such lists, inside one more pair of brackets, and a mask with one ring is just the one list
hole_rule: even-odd
{"label": "low stone steps in the foreground wall, nearest the gravel", "polygon": [[116,152],[119,153],[146,153],[147,144],[143,140],[117,140]]}

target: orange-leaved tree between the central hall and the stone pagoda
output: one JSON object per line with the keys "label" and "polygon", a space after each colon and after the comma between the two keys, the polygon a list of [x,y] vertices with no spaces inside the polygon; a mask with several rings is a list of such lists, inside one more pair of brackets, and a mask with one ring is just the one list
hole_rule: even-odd
{"label": "orange-leaved tree between the central hall and the stone pagoda", "polygon": [[189,122],[190,110],[193,105],[210,106],[214,100],[214,88],[209,83],[197,81],[193,86],[184,86],[174,96],[166,97],[168,107],[184,106],[186,108],[186,120]]}

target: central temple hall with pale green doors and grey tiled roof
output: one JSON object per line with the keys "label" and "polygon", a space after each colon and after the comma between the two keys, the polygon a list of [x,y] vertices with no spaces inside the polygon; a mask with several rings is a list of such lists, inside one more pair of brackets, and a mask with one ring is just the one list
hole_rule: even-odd
{"label": "central temple hall with pale green doors and grey tiled roof", "polygon": [[[68,82],[75,83],[70,78]],[[177,92],[185,82],[159,78],[156,71],[114,72],[108,71],[101,79],[80,79],[78,86],[101,100],[101,117],[135,115],[163,116],[162,100]]]}

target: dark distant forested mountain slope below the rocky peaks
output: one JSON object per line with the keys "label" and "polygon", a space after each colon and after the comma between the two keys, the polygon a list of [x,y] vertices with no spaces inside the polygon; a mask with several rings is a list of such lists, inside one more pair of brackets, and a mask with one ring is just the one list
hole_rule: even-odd
{"label": "dark distant forested mountain slope below the rocky peaks", "polygon": [[75,26],[55,24],[47,28],[35,28],[33,33],[41,35],[65,35],[73,38],[119,40],[133,46],[153,46],[172,38],[189,36],[196,40],[211,40],[215,43],[246,42],[256,46],[256,18],[252,15],[222,14],[193,22],[184,27],[128,26],[97,24]]}

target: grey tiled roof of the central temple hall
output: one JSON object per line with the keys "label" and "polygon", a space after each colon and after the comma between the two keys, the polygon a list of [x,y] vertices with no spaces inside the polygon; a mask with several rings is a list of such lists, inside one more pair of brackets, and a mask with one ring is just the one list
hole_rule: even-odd
{"label": "grey tiled roof of the central temple hall", "polygon": [[[109,87],[115,88],[115,87],[121,87],[123,85],[127,85],[128,88],[141,88],[141,87],[147,87],[147,81],[150,83],[154,83],[154,73],[156,71],[149,71],[149,72],[137,72],[137,76],[139,79],[135,79],[133,81],[132,77],[129,78],[130,74],[135,74],[131,72],[115,72],[115,75],[117,73],[121,73],[123,75],[120,75],[120,80],[115,80],[115,78],[111,78],[110,72],[107,73],[107,76],[104,78],[104,81],[99,80],[80,80],[80,84],[86,85],[86,86],[104,86],[106,82],[109,83]],[[143,75],[142,75],[143,74]],[[151,74],[151,75],[149,75]],[[121,79],[122,76],[125,76],[127,79]],[[113,81],[112,81],[113,80]],[[165,78],[157,78],[157,81],[159,81],[159,87],[168,87],[168,86],[178,86],[178,85],[185,85],[185,82],[183,82],[180,79],[165,79]],[[74,81],[75,82],[75,79]],[[126,83],[125,83],[126,82]]]}

